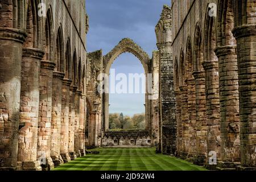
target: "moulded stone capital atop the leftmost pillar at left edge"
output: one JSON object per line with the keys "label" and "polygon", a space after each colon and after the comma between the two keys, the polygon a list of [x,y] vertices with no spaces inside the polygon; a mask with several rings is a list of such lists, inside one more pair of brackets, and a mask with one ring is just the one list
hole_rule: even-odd
{"label": "moulded stone capital atop the leftmost pillar at left edge", "polygon": [[24,30],[0,27],[0,39],[2,40],[14,40],[23,44],[26,37],[27,33]]}

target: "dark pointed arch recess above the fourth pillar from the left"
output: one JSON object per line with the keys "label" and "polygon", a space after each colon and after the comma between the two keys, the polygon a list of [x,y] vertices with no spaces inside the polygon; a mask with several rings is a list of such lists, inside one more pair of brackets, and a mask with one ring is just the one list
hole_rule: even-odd
{"label": "dark pointed arch recess above the fourth pillar from the left", "polygon": [[65,72],[65,59],[64,59],[64,43],[63,43],[63,31],[60,26],[57,31],[56,48],[55,48],[55,71]]}

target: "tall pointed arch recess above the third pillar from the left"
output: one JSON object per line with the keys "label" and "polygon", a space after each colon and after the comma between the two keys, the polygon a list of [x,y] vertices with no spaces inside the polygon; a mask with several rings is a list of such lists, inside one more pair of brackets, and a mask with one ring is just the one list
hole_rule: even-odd
{"label": "tall pointed arch recess above the third pillar from the left", "polygon": [[46,22],[44,25],[44,57],[43,60],[53,60],[53,21],[51,7],[47,11]]}

